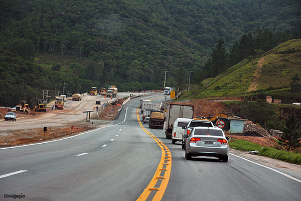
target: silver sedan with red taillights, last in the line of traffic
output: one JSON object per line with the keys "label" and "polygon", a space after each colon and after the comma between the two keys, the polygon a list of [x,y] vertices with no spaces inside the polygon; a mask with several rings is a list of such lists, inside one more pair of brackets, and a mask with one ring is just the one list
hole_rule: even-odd
{"label": "silver sedan with red taillights, last in the line of traffic", "polygon": [[195,127],[187,138],[185,158],[191,160],[192,156],[217,157],[228,162],[229,145],[224,131],[220,128]]}

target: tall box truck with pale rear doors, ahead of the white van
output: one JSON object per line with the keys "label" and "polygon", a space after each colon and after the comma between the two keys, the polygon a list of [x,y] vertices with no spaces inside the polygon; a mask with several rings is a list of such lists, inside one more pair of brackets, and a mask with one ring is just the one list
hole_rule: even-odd
{"label": "tall box truck with pale rear doors, ahead of the white van", "polygon": [[166,113],[165,135],[167,139],[172,138],[173,125],[178,118],[193,119],[194,106],[170,104]]}

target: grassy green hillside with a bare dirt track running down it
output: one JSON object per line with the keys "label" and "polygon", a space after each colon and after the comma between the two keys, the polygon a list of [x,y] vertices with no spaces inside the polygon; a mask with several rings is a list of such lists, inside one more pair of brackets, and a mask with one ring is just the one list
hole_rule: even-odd
{"label": "grassy green hillside with a bare dirt track running down it", "polygon": [[[263,92],[289,103],[289,83],[296,73],[301,75],[301,40],[290,40],[264,53],[255,62],[245,59],[218,76],[204,80],[202,85],[192,86],[181,99],[244,94],[250,97]],[[300,100],[301,95],[296,99]]]}

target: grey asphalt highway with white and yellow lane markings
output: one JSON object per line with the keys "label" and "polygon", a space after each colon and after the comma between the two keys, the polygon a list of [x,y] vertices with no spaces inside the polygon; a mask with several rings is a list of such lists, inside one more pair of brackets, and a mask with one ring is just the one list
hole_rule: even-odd
{"label": "grey asphalt highway with white and yellow lane markings", "polygon": [[300,177],[235,154],[228,163],[187,161],[180,142],[173,145],[164,130],[139,122],[139,100],[131,99],[105,127],[1,148],[0,200],[300,200]]}

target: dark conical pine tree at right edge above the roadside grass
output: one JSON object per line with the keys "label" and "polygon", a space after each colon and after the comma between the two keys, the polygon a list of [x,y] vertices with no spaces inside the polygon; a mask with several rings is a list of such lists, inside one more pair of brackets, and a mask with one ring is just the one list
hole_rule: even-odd
{"label": "dark conical pine tree at right edge above the roadside grass", "polygon": [[299,128],[300,124],[298,119],[294,113],[292,113],[292,115],[288,117],[283,134],[279,139],[279,144],[284,145],[287,151],[291,148],[301,147],[301,132],[299,132]]}

